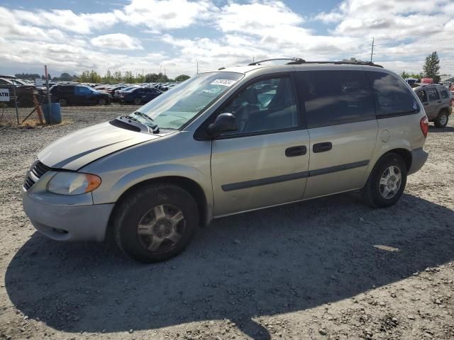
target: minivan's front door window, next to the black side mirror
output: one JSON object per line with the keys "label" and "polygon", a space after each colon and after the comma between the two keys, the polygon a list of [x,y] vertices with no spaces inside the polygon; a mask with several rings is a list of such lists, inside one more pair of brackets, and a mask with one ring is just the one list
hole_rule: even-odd
{"label": "minivan's front door window, next to the black side mirror", "polygon": [[248,85],[219,113],[232,113],[236,117],[238,131],[226,135],[297,128],[299,125],[290,77],[264,79]]}

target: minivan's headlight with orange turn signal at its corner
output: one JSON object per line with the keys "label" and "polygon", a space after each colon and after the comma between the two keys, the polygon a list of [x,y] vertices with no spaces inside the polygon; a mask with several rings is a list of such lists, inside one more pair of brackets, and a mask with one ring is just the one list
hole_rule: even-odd
{"label": "minivan's headlight with orange turn signal at its corner", "polygon": [[48,191],[60,195],[80,195],[94,191],[101,185],[101,179],[92,174],[59,172],[50,179]]}

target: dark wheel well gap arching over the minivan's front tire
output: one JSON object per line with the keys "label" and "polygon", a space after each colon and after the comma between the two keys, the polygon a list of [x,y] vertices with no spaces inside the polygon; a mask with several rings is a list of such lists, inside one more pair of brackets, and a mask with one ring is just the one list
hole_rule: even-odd
{"label": "dark wheel well gap arching over the minivan's front tire", "polygon": [[115,203],[115,207],[111,212],[111,217],[109,220],[109,229],[110,226],[112,225],[111,219],[115,215],[115,210],[116,207],[118,206],[118,203],[121,202],[126,196],[128,196],[128,193],[131,193],[132,191],[138,190],[141,186],[148,186],[152,183],[169,183],[169,184],[176,184],[177,186],[182,187],[184,190],[186,190],[196,201],[197,208],[199,208],[199,223],[201,226],[206,225],[206,217],[208,214],[208,207],[206,203],[206,197],[203,189],[201,186],[199,186],[198,183],[193,181],[192,179],[188,179],[186,177],[180,177],[180,176],[164,176],[164,177],[157,177],[156,179],[148,179],[147,181],[143,181],[140,183],[135,184],[134,186],[131,186],[131,188],[128,188],[124,193],[121,194],[121,196],[118,198],[118,200]]}

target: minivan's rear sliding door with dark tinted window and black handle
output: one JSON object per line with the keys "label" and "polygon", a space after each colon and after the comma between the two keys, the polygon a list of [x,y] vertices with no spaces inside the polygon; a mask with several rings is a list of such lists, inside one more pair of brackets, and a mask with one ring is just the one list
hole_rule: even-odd
{"label": "minivan's rear sliding door with dark tinted window and black handle", "polygon": [[297,72],[308,132],[309,177],[304,198],[362,186],[377,140],[375,104],[362,71]]}

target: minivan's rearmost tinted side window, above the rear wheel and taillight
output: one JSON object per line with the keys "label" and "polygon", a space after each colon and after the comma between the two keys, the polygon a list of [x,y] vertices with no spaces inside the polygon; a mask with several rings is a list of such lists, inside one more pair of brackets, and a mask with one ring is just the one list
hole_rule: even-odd
{"label": "minivan's rearmost tinted side window, above the rear wheel and taillight", "polygon": [[367,77],[374,91],[378,118],[419,111],[418,104],[403,79],[384,72],[367,72]]}

